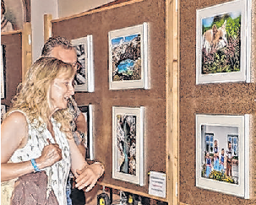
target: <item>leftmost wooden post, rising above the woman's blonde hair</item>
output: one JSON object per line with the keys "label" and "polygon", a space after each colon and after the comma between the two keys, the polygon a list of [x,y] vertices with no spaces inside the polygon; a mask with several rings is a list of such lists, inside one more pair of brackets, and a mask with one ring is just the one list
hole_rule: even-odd
{"label": "leftmost wooden post, rising above the woman's blonde hair", "polygon": [[25,80],[25,73],[32,64],[32,30],[31,23],[23,24],[22,29],[22,82]]}

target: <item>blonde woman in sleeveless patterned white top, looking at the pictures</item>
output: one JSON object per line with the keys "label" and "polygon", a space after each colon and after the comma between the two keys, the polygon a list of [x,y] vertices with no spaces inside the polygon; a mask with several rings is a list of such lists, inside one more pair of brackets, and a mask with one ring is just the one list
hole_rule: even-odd
{"label": "blonde woman in sleeveless patterned white top, looking at the pictures", "polygon": [[[78,170],[87,169],[74,143],[67,109],[74,74],[71,65],[50,57],[30,67],[2,123],[2,204],[65,205],[70,166],[78,178]],[[81,184],[79,188],[90,183]]]}

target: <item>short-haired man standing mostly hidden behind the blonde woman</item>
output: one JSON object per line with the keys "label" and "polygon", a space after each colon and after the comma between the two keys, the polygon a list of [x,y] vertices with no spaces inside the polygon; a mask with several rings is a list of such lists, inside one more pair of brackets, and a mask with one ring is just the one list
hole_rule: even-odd
{"label": "short-haired man standing mostly hidden behind the blonde woman", "polygon": [[[66,40],[63,37],[51,37],[49,38],[45,45],[43,46],[42,57],[56,57],[57,59],[62,60],[63,62],[70,63],[74,69],[77,71],[79,69],[79,62],[77,62],[77,54],[74,49],[74,47],[71,45],[71,43]],[[68,103],[68,108],[71,111],[71,113],[74,115],[74,140],[78,145],[78,148],[83,154],[85,158],[85,147],[84,147],[84,133],[86,132],[87,128],[85,125],[85,119],[84,115],[79,111],[79,108],[74,100],[70,100]],[[85,167],[83,170],[78,170],[77,174],[79,177],[76,179],[76,186],[78,186],[79,189],[82,188],[82,186],[89,186],[85,192],[90,191],[90,189],[95,186],[96,181],[103,175],[104,173],[104,167],[101,165],[101,163],[95,162],[92,165],[89,165]],[[68,182],[70,183],[70,181]],[[77,189],[73,189],[73,196],[75,193],[76,196],[74,196],[73,203],[71,202],[71,198],[68,196],[68,193],[70,193],[70,184],[67,186],[67,197],[68,197],[68,205],[69,204],[77,204],[79,205],[79,202],[74,202],[74,200],[78,197],[81,197],[79,200],[82,202],[81,204],[84,204],[85,199],[84,192],[80,192]]]}

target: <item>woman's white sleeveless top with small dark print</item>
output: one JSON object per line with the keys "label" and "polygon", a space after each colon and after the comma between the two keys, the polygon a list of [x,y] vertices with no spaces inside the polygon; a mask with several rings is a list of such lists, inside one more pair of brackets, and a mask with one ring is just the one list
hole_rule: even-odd
{"label": "woman's white sleeveless top with small dark print", "polygon": [[[25,115],[24,112],[22,113]],[[28,118],[27,121],[29,128],[28,142],[24,148],[20,148],[14,152],[13,156],[11,157],[11,161],[14,163],[19,163],[40,157],[42,149],[48,144],[46,141],[47,138],[50,139],[51,143],[57,143],[59,148],[62,149],[63,159],[42,170],[45,170],[46,175],[48,176],[47,194],[53,190],[55,196],[57,197],[58,203],[60,205],[66,205],[66,186],[68,173],[70,170],[70,153],[66,135],[60,131],[60,124],[57,123],[57,121],[55,121],[53,118],[51,121],[56,142],[54,141],[54,138],[52,138],[51,132],[47,130],[46,124],[36,128],[35,125],[38,123],[38,121],[34,120],[33,123],[30,123]]]}

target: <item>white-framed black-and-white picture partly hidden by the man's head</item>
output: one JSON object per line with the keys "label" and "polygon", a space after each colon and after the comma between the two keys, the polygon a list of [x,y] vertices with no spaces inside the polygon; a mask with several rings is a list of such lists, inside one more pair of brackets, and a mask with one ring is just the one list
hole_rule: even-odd
{"label": "white-framed black-and-white picture partly hidden by the man's head", "polygon": [[80,65],[74,77],[74,91],[94,92],[95,77],[92,35],[71,40],[71,43],[76,48],[78,63]]}

